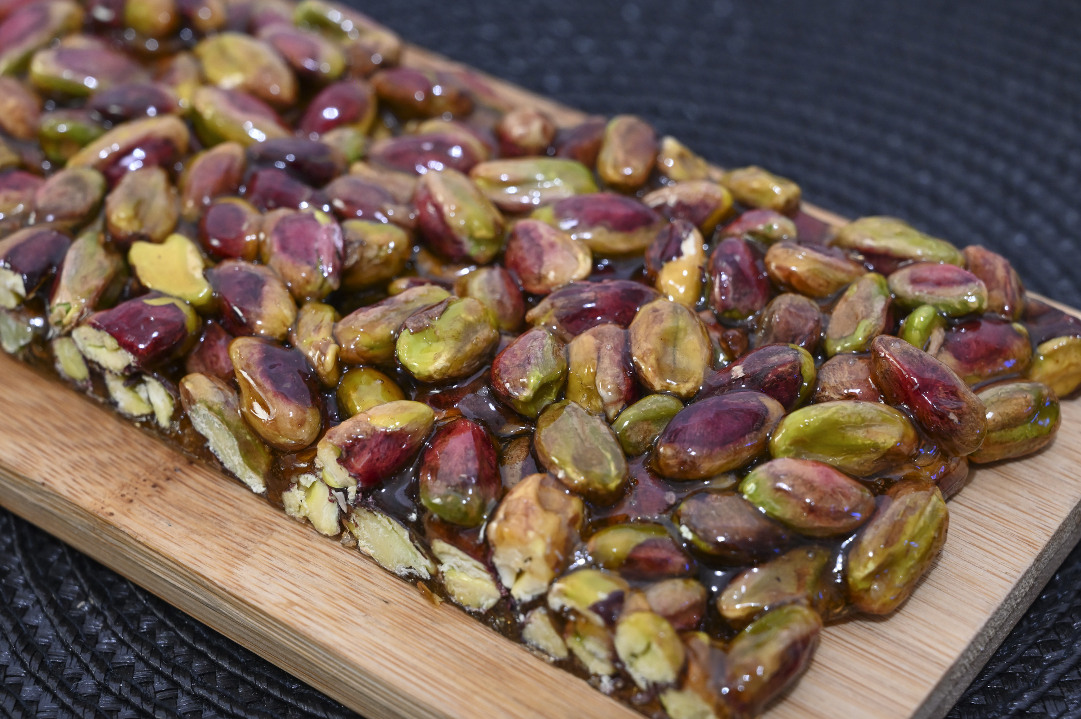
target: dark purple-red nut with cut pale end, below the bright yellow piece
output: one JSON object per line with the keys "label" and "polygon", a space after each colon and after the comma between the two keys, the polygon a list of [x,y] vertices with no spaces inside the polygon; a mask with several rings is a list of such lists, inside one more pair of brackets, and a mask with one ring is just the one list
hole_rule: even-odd
{"label": "dark purple-red nut with cut pale end, below the bright yellow piece", "polygon": [[128,374],[183,357],[198,339],[199,327],[188,303],[151,292],[91,315],[71,337],[86,359]]}

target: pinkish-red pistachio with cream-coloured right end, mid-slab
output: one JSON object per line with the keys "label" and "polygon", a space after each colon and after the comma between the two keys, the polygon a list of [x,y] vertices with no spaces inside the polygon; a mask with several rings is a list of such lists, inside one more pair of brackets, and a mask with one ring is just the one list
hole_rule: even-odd
{"label": "pinkish-red pistachio with cream-coloured right end, mid-slab", "polygon": [[584,280],[593,268],[588,247],[539,219],[519,219],[511,226],[504,262],[522,289],[533,294],[549,294]]}

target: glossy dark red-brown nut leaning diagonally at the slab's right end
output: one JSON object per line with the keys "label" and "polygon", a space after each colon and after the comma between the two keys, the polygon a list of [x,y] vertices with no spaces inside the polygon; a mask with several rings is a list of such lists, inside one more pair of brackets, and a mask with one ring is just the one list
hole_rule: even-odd
{"label": "glossy dark red-brown nut leaning diagonally at the slab's right end", "polygon": [[907,407],[947,452],[965,456],[979,448],[987,430],[986,409],[953,370],[889,335],[871,343],[871,370],[885,400]]}

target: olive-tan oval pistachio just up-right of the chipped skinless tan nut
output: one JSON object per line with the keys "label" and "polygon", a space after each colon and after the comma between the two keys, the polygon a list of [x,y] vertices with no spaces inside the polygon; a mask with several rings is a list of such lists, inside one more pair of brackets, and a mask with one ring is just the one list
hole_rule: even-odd
{"label": "olive-tan oval pistachio just up-right of the chipped skinless tan nut", "polygon": [[548,471],[590,502],[611,504],[627,487],[627,460],[615,434],[574,402],[548,407],[533,443]]}

